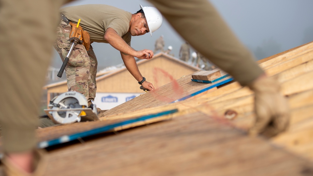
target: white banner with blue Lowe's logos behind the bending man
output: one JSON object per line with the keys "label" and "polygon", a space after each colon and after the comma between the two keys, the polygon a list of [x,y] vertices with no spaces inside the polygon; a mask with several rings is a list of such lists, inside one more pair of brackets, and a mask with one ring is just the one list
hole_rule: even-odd
{"label": "white banner with blue Lowe's logos behind the bending man", "polygon": [[129,101],[136,96],[139,96],[139,93],[98,93],[96,94],[95,104],[98,108],[102,110],[111,109],[117,105],[120,105],[126,101]]}

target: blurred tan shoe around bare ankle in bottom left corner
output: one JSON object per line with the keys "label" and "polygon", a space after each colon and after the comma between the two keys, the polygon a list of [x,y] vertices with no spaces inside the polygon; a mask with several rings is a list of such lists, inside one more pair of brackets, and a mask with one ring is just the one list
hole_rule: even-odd
{"label": "blurred tan shoe around bare ankle in bottom left corner", "polygon": [[47,158],[45,156],[44,150],[34,151],[34,161],[33,161],[33,173],[27,173],[22,170],[18,165],[13,163],[10,159],[4,156],[3,160],[3,171],[6,176],[41,176],[47,168]]}

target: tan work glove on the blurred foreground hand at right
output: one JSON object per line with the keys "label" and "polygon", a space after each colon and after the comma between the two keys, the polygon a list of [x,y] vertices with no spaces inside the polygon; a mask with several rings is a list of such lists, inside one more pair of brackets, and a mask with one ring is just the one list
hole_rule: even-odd
{"label": "tan work glove on the blurred foreground hand at right", "polygon": [[272,77],[262,75],[248,86],[255,92],[256,112],[255,124],[249,135],[273,137],[285,131],[289,126],[290,111],[286,98],[279,92],[279,83]]}

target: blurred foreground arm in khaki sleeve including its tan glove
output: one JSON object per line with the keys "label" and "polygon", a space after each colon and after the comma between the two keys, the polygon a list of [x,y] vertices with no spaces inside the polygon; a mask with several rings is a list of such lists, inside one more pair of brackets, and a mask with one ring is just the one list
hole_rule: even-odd
{"label": "blurred foreground arm in khaki sleeve including its tan glove", "polygon": [[251,135],[271,137],[287,129],[290,113],[279,84],[265,75],[208,0],[148,1],[194,49],[255,92],[257,118]]}

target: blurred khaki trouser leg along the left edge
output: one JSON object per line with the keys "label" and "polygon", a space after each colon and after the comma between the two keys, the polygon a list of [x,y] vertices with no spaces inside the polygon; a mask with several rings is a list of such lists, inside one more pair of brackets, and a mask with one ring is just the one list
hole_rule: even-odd
{"label": "blurred khaki trouser leg along the left edge", "polygon": [[36,146],[39,92],[50,64],[57,11],[62,3],[1,0],[0,124],[6,153]]}

